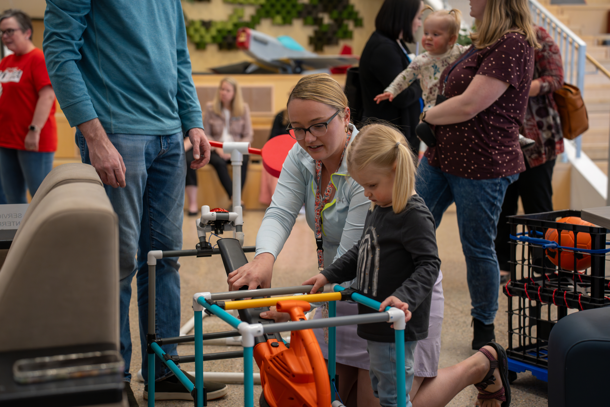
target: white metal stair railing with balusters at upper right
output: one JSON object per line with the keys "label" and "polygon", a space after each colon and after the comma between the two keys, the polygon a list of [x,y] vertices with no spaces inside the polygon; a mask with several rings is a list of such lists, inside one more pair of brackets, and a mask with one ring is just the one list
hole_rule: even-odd
{"label": "white metal stair railing with balusters at upper right", "polygon": [[[534,24],[547,30],[559,46],[564,63],[564,82],[574,84],[574,79],[576,79],[576,86],[582,95],[584,93],[584,63],[587,59],[587,44],[536,0],[529,0],[529,7]],[[597,65],[595,66],[597,67]],[[574,141],[576,157],[580,158],[582,135],[576,137]]]}

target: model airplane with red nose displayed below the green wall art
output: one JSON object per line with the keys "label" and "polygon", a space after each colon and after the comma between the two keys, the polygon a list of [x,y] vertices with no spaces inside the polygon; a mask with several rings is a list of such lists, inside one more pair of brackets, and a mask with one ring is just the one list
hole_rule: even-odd
{"label": "model airplane with red nose displayed below the green wall art", "polygon": [[[318,55],[307,51],[292,37],[278,38],[260,31],[242,27],[237,31],[237,48],[242,49],[254,62],[240,62],[212,68],[220,74],[236,73],[303,73],[329,71],[332,67],[346,67],[358,62],[357,55]],[[310,73],[310,72],[308,72]]]}

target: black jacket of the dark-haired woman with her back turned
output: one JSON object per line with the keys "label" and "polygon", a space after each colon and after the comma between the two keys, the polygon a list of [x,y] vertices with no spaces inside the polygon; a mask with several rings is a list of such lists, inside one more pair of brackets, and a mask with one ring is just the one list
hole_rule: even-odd
{"label": "black jacket of the dark-haired woman with her back turned", "polygon": [[[406,45],[404,49],[409,52]],[[417,140],[415,126],[419,122],[419,98],[422,96],[419,79],[397,95],[392,102],[384,100],[377,104],[373,100],[379,93],[383,93],[408,65],[409,60],[396,40],[386,37],[381,31],[373,32],[360,57],[363,116],[387,120],[399,126],[407,140]]]}

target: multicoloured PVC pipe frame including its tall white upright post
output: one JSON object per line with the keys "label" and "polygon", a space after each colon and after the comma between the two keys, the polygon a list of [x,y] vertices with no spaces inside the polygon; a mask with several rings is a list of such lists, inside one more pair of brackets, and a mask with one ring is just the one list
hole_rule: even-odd
{"label": "multicoloured PVC pipe frame including its tall white upright post", "polygon": [[[156,336],[156,265],[157,260],[162,258],[174,258],[182,256],[210,257],[212,254],[221,254],[220,248],[212,248],[206,242],[207,232],[233,231],[234,238],[239,241],[239,246],[243,253],[253,253],[255,247],[243,247],[243,216],[241,201],[241,167],[243,154],[260,154],[259,149],[250,148],[249,143],[232,142],[218,143],[210,142],[214,147],[222,147],[225,153],[231,153],[231,164],[233,166],[233,211],[234,212],[214,212],[208,206],[201,207],[201,219],[196,220],[196,227],[199,243],[195,250],[152,250],[148,252],[148,334],[146,335],[148,353],[148,407],[154,407],[155,391],[155,363],[156,356],[160,361],[176,375],[176,378],[191,392],[195,400],[195,407],[207,405],[206,389],[203,386],[203,361],[219,359],[232,359],[243,357],[243,386],[244,386],[244,406],[254,407],[254,373],[253,373],[253,351],[254,337],[264,334],[279,333],[284,331],[299,331],[312,328],[329,328],[328,343],[328,376],[331,384],[331,400],[335,398],[336,389],[336,326],[353,325],[361,323],[392,322],[395,330],[396,341],[396,370],[397,383],[397,404],[400,407],[406,406],[406,386],[404,370],[404,312],[398,308],[386,307],[384,312],[363,315],[349,315],[346,317],[336,316],[336,301],[353,300],[364,304],[370,308],[378,310],[381,306],[379,301],[372,300],[352,289],[345,289],[338,284],[327,284],[323,294],[302,295],[299,297],[274,297],[257,298],[253,300],[240,300],[224,302],[224,300],[237,300],[240,298],[266,297],[270,295],[301,294],[309,292],[314,286],[293,286],[269,289],[239,290],[230,292],[200,292],[193,295],[193,311],[195,312],[195,334],[192,336],[178,336],[169,338],[157,338]],[[235,205],[237,203],[237,205]],[[225,259],[223,258],[223,261]],[[226,266],[226,265],[225,265]],[[247,323],[226,312],[227,309],[246,309],[259,308],[262,306],[272,306],[281,300],[304,300],[310,303],[328,301],[329,318],[316,320],[300,320],[283,323]],[[217,301],[219,301],[217,303]],[[217,333],[203,333],[203,314],[214,314],[224,322],[235,328],[235,331],[224,331]],[[203,341],[207,339],[220,339],[226,337],[242,336],[243,351],[230,351],[219,353],[203,353]],[[162,345],[182,344],[195,342],[195,355],[178,356],[167,355],[162,350]],[[179,362],[195,362],[195,383],[188,380],[176,365]],[[319,405],[319,404],[318,404]]]}

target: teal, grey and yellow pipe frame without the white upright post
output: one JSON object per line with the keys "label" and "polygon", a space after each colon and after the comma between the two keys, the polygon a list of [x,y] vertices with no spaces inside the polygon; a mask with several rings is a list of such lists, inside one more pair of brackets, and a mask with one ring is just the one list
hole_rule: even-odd
{"label": "teal, grey and yellow pipe frame without the white upright post", "polygon": [[[244,251],[252,252],[253,247],[244,247]],[[219,254],[218,249],[212,249]],[[375,310],[381,306],[379,301],[365,297],[351,289],[345,289],[339,284],[327,284],[322,294],[302,295],[298,297],[273,297],[260,298],[254,300],[240,300],[224,302],[224,300],[237,300],[238,298],[263,297],[268,295],[300,294],[307,292],[313,286],[293,286],[279,287],[270,289],[240,290],[230,292],[199,292],[193,295],[193,311],[195,312],[195,334],[193,336],[181,336],[173,338],[157,338],[155,334],[155,276],[157,259],[179,256],[195,256],[198,250],[179,250],[179,251],[149,251],[148,252],[148,406],[154,407],[154,366],[156,357],[170,369],[174,375],[186,387],[195,399],[195,407],[207,405],[206,391],[203,386],[203,361],[240,358],[243,356],[243,387],[245,407],[254,407],[254,378],[253,378],[253,350],[254,337],[268,333],[279,333],[284,331],[298,331],[313,328],[329,328],[328,340],[328,375],[331,381],[331,389],[334,389],[336,381],[336,326],[353,325],[362,323],[391,322],[394,324],[394,335],[396,341],[396,373],[398,406],[406,406],[406,386],[404,370],[404,312],[401,309],[387,307],[384,312],[361,315],[348,315],[346,317],[336,316],[336,301],[353,300]],[[218,251],[218,252],[217,252]],[[201,254],[200,254],[201,255]],[[261,323],[247,323],[240,321],[233,315],[226,312],[226,309],[246,309],[258,308],[260,306],[275,305],[282,300],[304,300],[309,303],[328,301],[329,317],[315,320],[301,320],[292,322],[271,323],[262,325]],[[218,302],[217,302],[218,301]],[[231,325],[236,331],[225,331],[218,333],[203,333],[202,312],[207,310],[216,315],[224,322]],[[231,337],[240,334],[242,336],[243,351],[220,352],[204,355],[203,340]],[[170,356],[160,347],[163,344],[177,344],[185,342],[195,342],[195,355],[193,356]],[[176,366],[176,362],[195,362],[195,383],[188,380],[187,376]],[[402,384],[402,385],[400,385]],[[331,400],[334,400],[334,391],[331,391]],[[330,403],[329,403],[330,405]]]}

